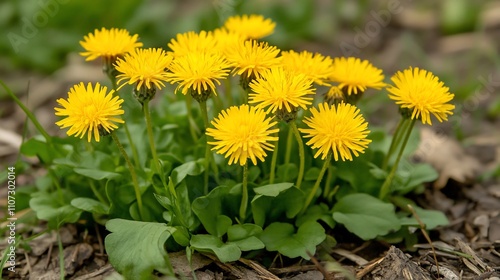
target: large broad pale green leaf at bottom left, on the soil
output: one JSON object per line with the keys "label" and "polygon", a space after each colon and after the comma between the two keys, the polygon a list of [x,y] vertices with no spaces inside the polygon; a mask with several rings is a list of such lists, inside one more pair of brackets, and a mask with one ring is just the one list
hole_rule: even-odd
{"label": "large broad pale green leaf at bottom left, on the soil", "polygon": [[104,244],[109,262],[130,279],[151,279],[153,270],[169,273],[164,244],[172,229],[166,224],[113,219]]}

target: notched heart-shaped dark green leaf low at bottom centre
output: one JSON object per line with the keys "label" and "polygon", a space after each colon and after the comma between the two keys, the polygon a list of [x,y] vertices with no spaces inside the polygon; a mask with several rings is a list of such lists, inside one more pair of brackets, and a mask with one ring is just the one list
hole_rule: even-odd
{"label": "notched heart-shaped dark green leaf low at bottom centre", "polygon": [[268,251],[278,251],[289,258],[310,259],[307,253],[314,255],[316,246],[325,240],[325,229],[314,221],[302,224],[297,232],[292,224],[272,223],[260,235]]}

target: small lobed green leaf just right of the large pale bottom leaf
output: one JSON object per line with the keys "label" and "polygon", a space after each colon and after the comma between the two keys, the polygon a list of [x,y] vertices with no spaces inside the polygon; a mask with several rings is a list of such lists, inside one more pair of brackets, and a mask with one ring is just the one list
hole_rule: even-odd
{"label": "small lobed green leaf just right of the large pale bottom leaf", "polygon": [[213,235],[194,235],[191,238],[191,247],[200,252],[213,253],[221,262],[234,262],[241,257],[241,250],[236,244],[224,244]]}

